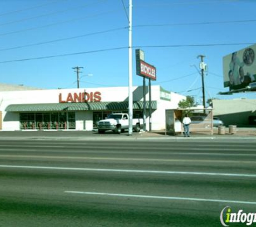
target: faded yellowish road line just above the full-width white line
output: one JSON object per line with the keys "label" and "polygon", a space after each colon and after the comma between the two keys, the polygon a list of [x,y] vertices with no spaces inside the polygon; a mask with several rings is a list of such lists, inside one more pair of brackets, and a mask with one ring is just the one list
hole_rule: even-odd
{"label": "faded yellowish road line just above the full-width white line", "polygon": [[256,164],[256,161],[243,160],[207,160],[207,159],[148,159],[148,158],[108,158],[108,157],[78,157],[78,156],[53,156],[53,155],[16,155],[1,154],[0,158],[36,158],[36,159],[78,159],[78,160],[103,160],[103,161],[162,161],[162,162],[217,162],[217,163],[239,163]]}

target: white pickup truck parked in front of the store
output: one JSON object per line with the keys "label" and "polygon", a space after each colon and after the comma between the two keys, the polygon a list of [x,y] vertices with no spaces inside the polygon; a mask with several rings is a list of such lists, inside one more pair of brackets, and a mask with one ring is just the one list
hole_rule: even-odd
{"label": "white pickup truck parked in front of the store", "polygon": [[[139,132],[143,126],[143,119],[133,119],[133,129]],[[107,119],[98,122],[98,132],[104,133],[107,130],[112,130],[116,133],[121,133],[129,127],[129,116],[127,113],[112,113]]]}

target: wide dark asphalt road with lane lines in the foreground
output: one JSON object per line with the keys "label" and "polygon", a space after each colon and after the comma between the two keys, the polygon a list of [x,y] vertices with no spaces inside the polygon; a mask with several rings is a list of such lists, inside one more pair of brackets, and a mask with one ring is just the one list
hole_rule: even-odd
{"label": "wide dark asphalt road with lane lines in the foreground", "polygon": [[255,145],[1,140],[0,226],[222,226],[256,212]]}

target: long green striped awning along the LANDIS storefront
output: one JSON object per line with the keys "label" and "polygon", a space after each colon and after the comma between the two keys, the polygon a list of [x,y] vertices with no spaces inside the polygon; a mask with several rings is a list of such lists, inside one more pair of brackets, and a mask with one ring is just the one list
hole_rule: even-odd
{"label": "long green striped awning along the LANDIS storefront", "polygon": [[[156,110],[157,102],[151,102],[151,108]],[[134,110],[143,109],[143,101],[133,102]],[[146,109],[149,102],[146,101]],[[128,101],[124,102],[83,102],[83,103],[43,103],[43,104],[11,104],[7,112],[45,112],[45,111],[83,111],[83,110],[128,110]]]}

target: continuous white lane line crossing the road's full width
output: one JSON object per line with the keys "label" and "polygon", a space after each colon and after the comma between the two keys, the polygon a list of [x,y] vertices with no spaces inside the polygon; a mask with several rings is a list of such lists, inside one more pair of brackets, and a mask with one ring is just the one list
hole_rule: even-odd
{"label": "continuous white lane line crossing the road's full width", "polygon": [[208,176],[234,176],[256,178],[256,174],[236,174],[236,173],[207,173],[207,172],[181,172],[181,171],[150,171],[140,169],[99,169],[99,168],[71,168],[71,167],[51,167],[51,166],[14,166],[0,165],[0,168],[23,168],[23,169],[55,169],[67,171],[92,171],[92,172],[117,172],[117,173],[155,173],[155,174],[182,174],[182,175],[208,175]]}

